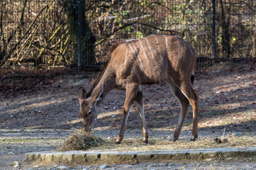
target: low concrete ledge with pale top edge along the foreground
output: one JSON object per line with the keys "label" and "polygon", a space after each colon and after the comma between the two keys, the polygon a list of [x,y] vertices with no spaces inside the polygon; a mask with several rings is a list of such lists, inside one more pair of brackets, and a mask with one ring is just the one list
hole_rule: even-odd
{"label": "low concrete ledge with pale top edge along the foreground", "polygon": [[256,157],[255,147],[217,148],[217,149],[178,149],[164,151],[138,152],[99,152],[99,151],[68,151],[68,152],[32,152],[26,154],[28,162],[51,163],[91,163],[105,162],[150,162],[166,160],[204,160],[204,159],[235,159],[240,157]]}

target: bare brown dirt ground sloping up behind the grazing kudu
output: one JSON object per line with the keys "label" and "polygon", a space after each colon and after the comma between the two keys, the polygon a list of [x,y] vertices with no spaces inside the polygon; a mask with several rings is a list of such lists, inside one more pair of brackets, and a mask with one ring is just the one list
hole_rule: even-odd
{"label": "bare brown dirt ground sloping up behind the grazing kudu", "polygon": [[[11,169],[14,161],[23,164],[27,152],[56,149],[73,130],[82,128],[76,92],[80,86],[87,89],[94,76],[94,72],[85,72],[52,79],[1,81],[0,167]],[[250,142],[245,140],[241,147],[256,147],[255,62],[223,63],[198,70],[193,87],[200,103],[198,140],[213,139],[225,133],[250,137]],[[142,89],[149,141],[154,137],[168,139],[174,132],[180,111],[176,98],[164,83],[143,85]],[[124,97],[125,91],[108,94],[99,106],[95,135],[107,139],[117,137]],[[181,141],[191,137],[192,118],[190,106]],[[142,123],[135,107],[129,115],[124,137],[142,138]]]}

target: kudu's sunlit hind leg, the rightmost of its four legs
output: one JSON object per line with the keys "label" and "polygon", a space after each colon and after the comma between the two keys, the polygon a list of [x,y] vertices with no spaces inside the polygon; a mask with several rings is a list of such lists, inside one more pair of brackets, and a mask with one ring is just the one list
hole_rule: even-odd
{"label": "kudu's sunlit hind leg, the rightmost of its four legs", "polygon": [[193,90],[190,83],[183,83],[181,86],[182,93],[188,98],[189,103],[191,103],[193,109],[193,129],[191,141],[195,141],[198,137],[198,96]]}

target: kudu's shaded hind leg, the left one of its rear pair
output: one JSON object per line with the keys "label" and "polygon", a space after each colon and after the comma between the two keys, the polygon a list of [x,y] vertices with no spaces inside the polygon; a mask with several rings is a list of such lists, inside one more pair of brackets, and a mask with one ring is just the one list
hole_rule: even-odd
{"label": "kudu's shaded hind leg, the left one of its rear pair", "polygon": [[174,130],[174,136],[172,138],[173,141],[176,141],[176,140],[178,140],[178,137],[181,133],[181,128],[182,128],[182,125],[183,125],[183,121],[184,121],[186,113],[188,111],[189,101],[186,98],[186,96],[183,95],[181,90],[178,89],[178,87],[173,82],[169,82],[167,84],[169,84],[169,87],[170,87],[171,91],[173,92],[174,96],[178,99],[178,103],[181,106],[181,113],[179,115],[178,123],[176,125],[175,130]]}

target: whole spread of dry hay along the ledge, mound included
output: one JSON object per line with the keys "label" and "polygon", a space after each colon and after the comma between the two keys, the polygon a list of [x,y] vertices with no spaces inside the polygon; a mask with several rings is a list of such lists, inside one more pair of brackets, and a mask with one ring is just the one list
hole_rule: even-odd
{"label": "whole spread of dry hay along the ledge, mound included", "polygon": [[[92,132],[76,130],[69,135],[58,150],[87,150],[97,149],[100,151],[154,151],[171,149],[208,149],[220,147],[256,147],[255,135],[225,135],[218,137],[199,137],[196,142],[189,142],[187,139],[179,139],[172,142],[159,137],[149,138],[149,144],[144,144],[142,138],[124,138],[121,145],[114,144],[114,138],[103,140],[95,137]],[[221,142],[220,142],[221,141]]]}

